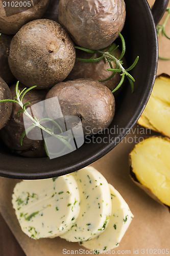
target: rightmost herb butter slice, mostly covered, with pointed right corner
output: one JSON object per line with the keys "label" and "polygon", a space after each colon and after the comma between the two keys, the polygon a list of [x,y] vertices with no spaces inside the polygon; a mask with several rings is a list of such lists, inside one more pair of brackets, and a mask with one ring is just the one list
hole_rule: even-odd
{"label": "rightmost herb butter slice, mostly covered, with pointed right corner", "polygon": [[109,184],[109,186],[112,201],[112,213],[109,217],[108,226],[98,237],[80,243],[87,249],[94,250],[95,254],[117,247],[133,217],[129,206],[123,197],[120,196],[118,191],[112,185]]}

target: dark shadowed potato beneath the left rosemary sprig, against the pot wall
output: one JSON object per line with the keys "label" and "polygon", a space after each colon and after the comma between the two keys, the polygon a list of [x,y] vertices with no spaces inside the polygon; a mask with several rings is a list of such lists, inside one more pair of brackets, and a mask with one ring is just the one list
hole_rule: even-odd
{"label": "dark shadowed potato beneath the left rosemary sprig, against the pot wall", "polygon": [[[19,84],[19,90],[22,91],[25,88],[22,84]],[[12,98],[16,96],[15,84],[10,87]],[[46,90],[31,90],[25,97],[23,97],[22,102],[26,103],[30,101],[31,105],[42,101],[45,99],[47,91]],[[30,105],[29,105],[30,106]],[[4,143],[12,150],[21,156],[26,157],[44,157],[46,156],[44,150],[43,140],[31,140],[27,136],[23,138],[22,145],[20,144],[20,137],[23,132],[25,132],[25,126],[23,124],[23,114],[20,113],[19,117],[17,112],[21,110],[19,104],[13,103],[12,114],[10,120],[4,129],[1,130],[1,138]]]}

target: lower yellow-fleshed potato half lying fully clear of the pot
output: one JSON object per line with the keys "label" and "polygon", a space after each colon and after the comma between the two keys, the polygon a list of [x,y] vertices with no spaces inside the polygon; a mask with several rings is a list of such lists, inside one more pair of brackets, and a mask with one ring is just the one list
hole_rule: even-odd
{"label": "lower yellow-fleshed potato half lying fully clear of the pot", "polygon": [[136,144],[130,154],[137,180],[170,206],[170,140],[151,137]]}

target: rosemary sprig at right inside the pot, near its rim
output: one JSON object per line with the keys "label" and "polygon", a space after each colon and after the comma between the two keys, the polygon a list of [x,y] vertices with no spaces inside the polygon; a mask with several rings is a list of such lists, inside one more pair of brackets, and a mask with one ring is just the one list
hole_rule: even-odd
{"label": "rosemary sprig at right inside the pot, near its rim", "polygon": [[[129,83],[130,83],[130,86],[131,86],[131,90],[132,90],[132,93],[134,91],[134,82],[135,82],[135,79],[133,78],[132,75],[129,74],[129,71],[132,70],[137,62],[138,62],[138,59],[139,59],[139,56],[136,57],[135,61],[133,62],[133,64],[128,68],[128,69],[125,69],[123,67],[123,60],[122,58],[124,57],[125,55],[125,52],[126,52],[126,44],[125,44],[125,39],[123,37],[122,34],[119,33],[119,36],[120,36],[120,39],[122,40],[122,53],[120,54],[120,57],[117,59],[114,54],[113,54],[113,51],[115,51],[118,46],[116,46],[116,44],[113,42],[113,44],[110,45],[109,49],[103,49],[103,50],[90,50],[90,49],[86,49],[86,48],[83,48],[83,47],[79,47],[79,46],[75,46],[76,49],[79,49],[79,50],[82,50],[84,52],[88,52],[88,53],[91,53],[93,54],[93,56],[89,59],[82,59],[82,58],[77,58],[77,60],[81,61],[81,62],[86,62],[86,63],[94,63],[94,62],[98,62],[100,60],[104,60],[104,62],[106,63],[106,61],[109,62],[109,65],[110,65],[110,69],[107,69],[108,71],[111,71],[112,74],[105,80],[99,80],[100,82],[105,82],[105,81],[108,81],[110,80],[114,75],[115,73],[119,72],[119,73],[122,73],[120,74],[120,76],[122,76],[120,82],[118,83],[117,87],[112,91],[112,93],[114,93],[115,91],[117,91],[120,86],[122,86],[124,80],[125,80],[125,76],[128,77],[128,80],[129,80]],[[107,50],[107,51],[105,51]],[[94,54],[98,54],[100,57],[98,58],[94,58]],[[112,61],[114,61],[116,63],[116,68],[113,69],[113,66],[112,66]]]}

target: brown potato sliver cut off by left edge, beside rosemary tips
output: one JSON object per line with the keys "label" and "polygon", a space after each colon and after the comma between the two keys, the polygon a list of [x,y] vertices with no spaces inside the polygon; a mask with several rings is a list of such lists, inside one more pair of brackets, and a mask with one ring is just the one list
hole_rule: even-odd
{"label": "brown potato sliver cut off by left edge, beside rosemary tips", "polygon": [[[6,82],[0,77],[0,100],[11,99],[11,91]],[[12,112],[11,102],[0,103],[0,130],[5,126]]]}

